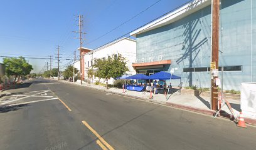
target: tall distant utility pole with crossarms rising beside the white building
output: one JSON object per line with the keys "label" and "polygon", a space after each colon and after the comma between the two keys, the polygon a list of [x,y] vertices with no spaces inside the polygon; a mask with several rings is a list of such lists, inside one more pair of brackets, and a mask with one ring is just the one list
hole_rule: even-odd
{"label": "tall distant utility pole with crossarms rising beside the white building", "polygon": [[[85,34],[85,32],[82,32],[82,26],[83,26],[83,16],[79,14],[78,17],[78,26],[79,26],[79,39],[80,39],[80,81],[81,81],[81,84],[83,84],[83,74],[82,73],[82,44],[83,44],[83,38],[82,38],[82,34]],[[74,32],[77,32],[77,31],[74,31]]]}

